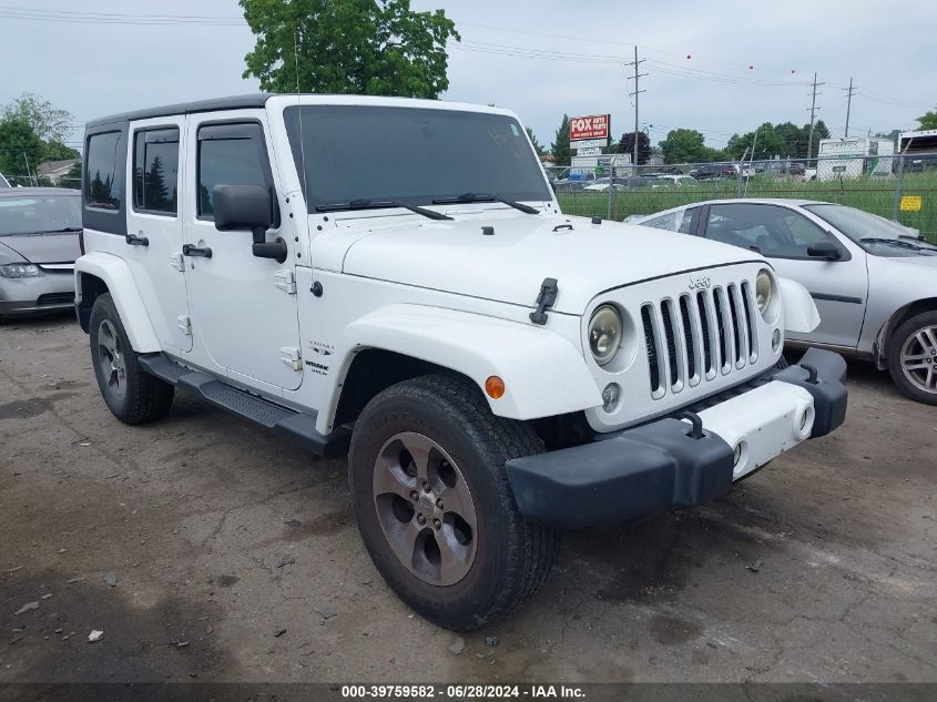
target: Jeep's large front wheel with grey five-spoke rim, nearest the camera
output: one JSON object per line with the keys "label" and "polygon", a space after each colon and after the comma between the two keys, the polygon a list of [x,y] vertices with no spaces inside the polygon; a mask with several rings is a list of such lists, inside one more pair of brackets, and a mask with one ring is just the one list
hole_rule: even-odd
{"label": "Jeep's large front wheel with grey five-spoke rim, nearest the camera", "polygon": [[456,376],[399,383],[368,404],[352,438],[352,500],[365,547],[401,600],[464,631],[540,590],[556,532],[520,515],[505,462],[542,450],[531,427],[492,415]]}

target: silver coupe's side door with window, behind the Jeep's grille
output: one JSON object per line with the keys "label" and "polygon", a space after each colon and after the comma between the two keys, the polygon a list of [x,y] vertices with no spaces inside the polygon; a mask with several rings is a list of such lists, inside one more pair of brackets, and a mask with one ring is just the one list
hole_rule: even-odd
{"label": "silver coupe's side door with window, behind the Jeep's grille", "polygon": [[[828,232],[799,212],[762,203],[726,203],[709,207],[703,235],[771,260],[778,275],[809,291],[819,312],[819,326],[808,334],[787,334],[792,340],[855,348],[865,318],[868,272],[865,258],[854,256]],[[828,241],[838,261],[807,255],[812,244]]]}

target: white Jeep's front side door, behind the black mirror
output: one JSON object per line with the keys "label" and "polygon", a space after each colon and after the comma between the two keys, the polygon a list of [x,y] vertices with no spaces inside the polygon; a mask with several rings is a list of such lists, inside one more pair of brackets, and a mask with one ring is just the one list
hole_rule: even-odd
{"label": "white Jeep's front side door, behind the black mirror", "polygon": [[303,379],[294,271],[292,220],[267,232],[287,242],[284,263],[257,258],[248,230],[215,228],[215,185],[264,185],[283,205],[276,169],[271,167],[263,111],[190,115],[186,167],[193,174],[185,218],[184,258],[190,276],[193,360],[224,373],[236,384],[281,394]]}

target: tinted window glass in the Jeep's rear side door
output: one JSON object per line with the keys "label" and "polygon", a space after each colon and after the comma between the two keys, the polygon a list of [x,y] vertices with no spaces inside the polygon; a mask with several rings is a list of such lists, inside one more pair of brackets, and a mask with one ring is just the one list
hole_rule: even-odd
{"label": "tinted window glass in the Jeep's rear side door", "polygon": [[176,214],[179,129],[136,132],[133,138],[133,208]]}

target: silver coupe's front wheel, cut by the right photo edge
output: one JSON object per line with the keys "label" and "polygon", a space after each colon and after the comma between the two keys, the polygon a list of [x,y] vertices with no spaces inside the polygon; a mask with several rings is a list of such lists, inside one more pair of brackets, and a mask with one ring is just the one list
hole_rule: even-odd
{"label": "silver coupe's front wheel, cut by the right photo edge", "polygon": [[937,405],[937,312],[915,315],[888,339],[888,373],[908,397]]}

